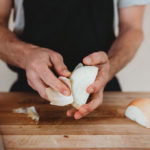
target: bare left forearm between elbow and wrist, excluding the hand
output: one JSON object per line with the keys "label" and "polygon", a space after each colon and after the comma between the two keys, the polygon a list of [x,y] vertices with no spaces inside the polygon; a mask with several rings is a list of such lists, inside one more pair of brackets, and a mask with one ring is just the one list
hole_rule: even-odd
{"label": "bare left forearm between elbow and wrist, excluding the hand", "polygon": [[5,25],[0,24],[0,59],[24,69],[30,46],[20,41]]}

